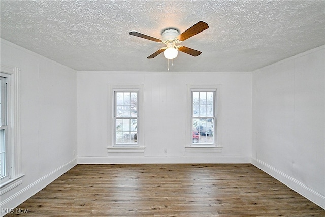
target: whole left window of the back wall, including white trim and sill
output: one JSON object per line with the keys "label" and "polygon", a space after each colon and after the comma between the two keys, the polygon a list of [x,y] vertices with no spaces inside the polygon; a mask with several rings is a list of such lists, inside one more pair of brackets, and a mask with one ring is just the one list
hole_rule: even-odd
{"label": "whole left window of the back wall, including white trim and sill", "polygon": [[109,153],[144,153],[143,84],[110,84],[108,101],[107,151]]}

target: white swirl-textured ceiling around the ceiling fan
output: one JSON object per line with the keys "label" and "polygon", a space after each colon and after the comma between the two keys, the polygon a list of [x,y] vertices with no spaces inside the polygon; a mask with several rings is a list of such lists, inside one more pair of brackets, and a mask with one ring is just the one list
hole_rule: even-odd
{"label": "white swirl-textured ceiling around the ceiling fan", "polygon": [[1,38],[76,70],[167,71],[161,39],[205,21],[171,71],[253,71],[325,44],[325,1],[0,0]]}

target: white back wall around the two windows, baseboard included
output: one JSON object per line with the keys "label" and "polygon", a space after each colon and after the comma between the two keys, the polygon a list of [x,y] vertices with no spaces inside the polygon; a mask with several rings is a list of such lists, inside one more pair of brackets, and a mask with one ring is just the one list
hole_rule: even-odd
{"label": "white back wall around the two windows, baseboard included", "polygon": [[[109,84],[144,84],[144,153],[108,153]],[[185,152],[186,84],[222,85],[222,152]],[[78,163],[250,163],[251,87],[246,72],[78,71]]]}

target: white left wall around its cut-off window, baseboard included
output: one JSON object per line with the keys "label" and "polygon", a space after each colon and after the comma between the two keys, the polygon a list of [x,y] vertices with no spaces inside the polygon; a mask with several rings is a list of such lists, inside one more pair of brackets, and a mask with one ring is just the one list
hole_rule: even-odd
{"label": "white left wall around its cut-off window, baseboard included", "polygon": [[1,195],[1,208],[14,208],[77,163],[76,71],[3,39],[1,65],[21,69],[25,175],[22,184]]}

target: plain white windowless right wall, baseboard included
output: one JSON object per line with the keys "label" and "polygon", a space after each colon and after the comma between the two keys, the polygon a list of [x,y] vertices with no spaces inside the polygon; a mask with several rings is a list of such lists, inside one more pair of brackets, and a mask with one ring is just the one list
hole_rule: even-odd
{"label": "plain white windowless right wall, baseboard included", "polygon": [[325,208],[325,46],[253,72],[252,162]]}

